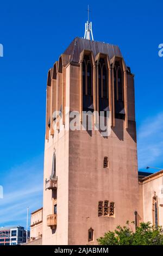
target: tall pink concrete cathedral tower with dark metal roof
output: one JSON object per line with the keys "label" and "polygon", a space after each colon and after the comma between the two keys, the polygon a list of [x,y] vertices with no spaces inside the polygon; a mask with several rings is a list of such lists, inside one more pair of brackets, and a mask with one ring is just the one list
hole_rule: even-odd
{"label": "tall pink concrete cathedral tower with dark metal roof", "polygon": [[[69,129],[74,111],[79,129]],[[137,176],[134,75],[118,46],[75,38],[48,71],[43,245],[96,245],[135,211],[139,222]]]}

